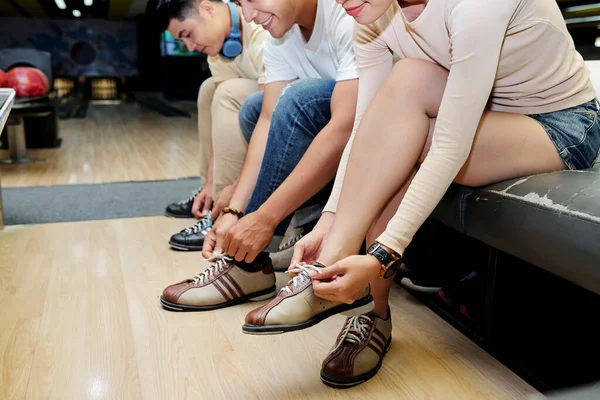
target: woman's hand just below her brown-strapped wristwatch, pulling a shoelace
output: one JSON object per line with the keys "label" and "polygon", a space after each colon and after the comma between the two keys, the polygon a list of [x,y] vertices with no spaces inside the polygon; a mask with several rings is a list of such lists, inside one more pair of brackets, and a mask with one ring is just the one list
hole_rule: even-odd
{"label": "woman's hand just below her brown-strapped wristwatch, pulling a shoelace", "polygon": [[313,271],[313,290],[317,297],[352,304],[359,299],[369,282],[379,276],[381,263],[373,256],[350,256],[330,267]]}

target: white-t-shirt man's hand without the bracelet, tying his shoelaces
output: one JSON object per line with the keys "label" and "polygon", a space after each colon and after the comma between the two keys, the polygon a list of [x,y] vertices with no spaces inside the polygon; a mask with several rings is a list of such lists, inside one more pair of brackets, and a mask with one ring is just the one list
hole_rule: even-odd
{"label": "white-t-shirt man's hand without the bracelet, tying his shoelaces", "polygon": [[237,261],[252,262],[273,239],[276,227],[277,221],[260,210],[248,214],[229,230],[223,249]]}

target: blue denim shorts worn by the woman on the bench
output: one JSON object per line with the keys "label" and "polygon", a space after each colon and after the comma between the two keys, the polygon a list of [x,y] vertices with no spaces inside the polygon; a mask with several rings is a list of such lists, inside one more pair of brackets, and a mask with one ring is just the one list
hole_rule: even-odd
{"label": "blue denim shorts worn by the woman on the bench", "polygon": [[600,150],[600,118],[596,99],[576,107],[531,114],[550,139],[569,169],[594,165]]}

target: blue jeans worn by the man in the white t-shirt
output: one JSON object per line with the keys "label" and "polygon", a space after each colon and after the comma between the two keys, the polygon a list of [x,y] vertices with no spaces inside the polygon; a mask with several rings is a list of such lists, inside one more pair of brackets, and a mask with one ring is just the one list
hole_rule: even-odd
{"label": "blue jeans worn by the man in the white t-shirt", "polygon": [[[269,137],[260,173],[246,207],[246,213],[256,210],[277,190],[292,173],[304,153],[331,119],[331,95],[335,81],[324,79],[300,79],[283,89],[271,116]],[[262,107],[263,92],[254,93],[246,99],[239,120],[246,141],[250,142]],[[331,184],[311,199],[306,199],[300,209],[322,209],[331,193]],[[320,211],[311,213],[318,219]],[[293,215],[283,220],[275,230],[282,237]],[[309,218],[310,219],[310,218]],[[312,221],[304,221],[309,223]],[[303,225],[304,223],[298,223]]]}

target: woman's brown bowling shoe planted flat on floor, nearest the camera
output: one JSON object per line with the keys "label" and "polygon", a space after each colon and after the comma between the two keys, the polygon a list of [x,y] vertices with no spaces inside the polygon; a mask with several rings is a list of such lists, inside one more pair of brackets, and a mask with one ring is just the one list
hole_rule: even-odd
{"label": "woman's brown bowling shoe planted flat on floor, nearest the camera", "polygon": [[348,318],[321,369],[328,386],[348,388],[375,376],[392,342],[392,318],[374,314]]}

